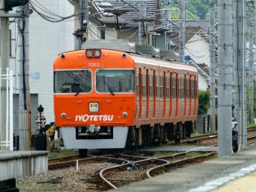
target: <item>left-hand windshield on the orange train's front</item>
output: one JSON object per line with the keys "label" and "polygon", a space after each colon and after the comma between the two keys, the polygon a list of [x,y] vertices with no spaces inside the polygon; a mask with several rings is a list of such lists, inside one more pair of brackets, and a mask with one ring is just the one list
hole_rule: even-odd
{"label": "left-hand windshield on the orange train's front", "polygon": [[92,91],[89,70],[54,71],[54,93],[83,93]]}

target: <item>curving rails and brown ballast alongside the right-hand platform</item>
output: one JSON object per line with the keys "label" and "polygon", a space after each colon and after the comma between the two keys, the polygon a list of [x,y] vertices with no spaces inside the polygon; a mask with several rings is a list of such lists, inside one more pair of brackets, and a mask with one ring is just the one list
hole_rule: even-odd
{"label": "curving rails and brown ballast alongside the right-hand platform", "polygon": [[[191,152],[176,153],[171,156],[160,157],[138,157],[120,155],[121,159],[132,159],[138,161],[129,161],[126,164],[119,164],[113,167],[107,167],[100,170],[97,181],[97,188],[100,190],[108,190],[109,188],[118,189],[122,185],[127,185],[131,182],[138,182],[142,179],[147,179],[156,174],[165,173],[172,168],[170,167],[185,167],[188,164],[195,164],[214,157],[217,153],[203,154],[202,156],[186,157]],[[166,170],[166,171],[163,171]]]}

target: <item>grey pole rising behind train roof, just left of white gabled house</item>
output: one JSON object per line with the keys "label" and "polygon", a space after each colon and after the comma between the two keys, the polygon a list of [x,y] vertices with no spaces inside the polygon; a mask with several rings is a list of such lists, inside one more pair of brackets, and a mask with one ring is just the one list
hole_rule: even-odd
{"label": "grey pole rising behind train roof, just left of white gabled house", "polygon": [[185,62],[185,1],[179,0],[179,62]]}

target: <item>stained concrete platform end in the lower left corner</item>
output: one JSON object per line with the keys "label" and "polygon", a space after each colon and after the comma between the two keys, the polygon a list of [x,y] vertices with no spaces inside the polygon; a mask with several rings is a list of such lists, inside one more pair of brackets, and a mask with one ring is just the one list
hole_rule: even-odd
{"label": "stained concrete platform end in the lower left corner", "polygon": [[48,170],[48,151],[0,151],[0,191],[17,191],[16,178]]}

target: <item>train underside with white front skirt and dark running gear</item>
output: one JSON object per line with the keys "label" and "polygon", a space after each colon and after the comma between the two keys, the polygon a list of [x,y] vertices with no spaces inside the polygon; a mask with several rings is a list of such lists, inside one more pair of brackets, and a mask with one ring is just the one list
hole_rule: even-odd
{"label": "train underside with white front skirt and dark running gear", "polygon": [[181,138],[191,137],[192,121],[176,124],[141,125],[141,127],[61,127],[65,148],[78,149],[81,157],[88,149],[138,149],[147,146],[179,143]]}

